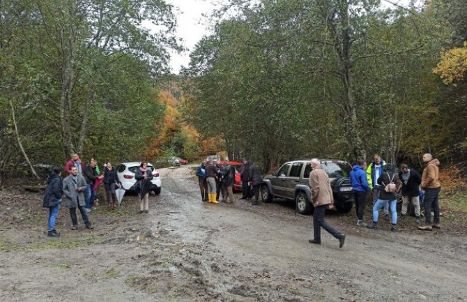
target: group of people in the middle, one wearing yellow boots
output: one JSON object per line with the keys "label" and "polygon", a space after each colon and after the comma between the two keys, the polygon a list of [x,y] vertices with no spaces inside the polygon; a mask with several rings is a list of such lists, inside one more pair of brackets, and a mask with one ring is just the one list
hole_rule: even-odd
{"label": "group of people in the middle, one wearing yellow boots", "polygon": [[[250,160],[242,159],[240,178],[242,180],[243,199],[254,196],[253,205],[259,204],[259,186],[263,182],[261,173]],[[222,163],[220,160],[204,160],[197,168],[201,201],[218,204],[219,202],[234,202],[234,183],[236,170],[228,158]],[[220,200],[220,197],[222,199]]]}

